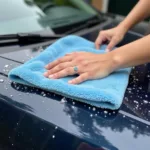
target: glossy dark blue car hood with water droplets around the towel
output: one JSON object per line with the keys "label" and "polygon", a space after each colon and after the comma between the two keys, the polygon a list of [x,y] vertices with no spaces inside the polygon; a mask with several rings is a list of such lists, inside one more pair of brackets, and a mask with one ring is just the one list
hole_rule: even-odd
{"label": "glossy dark blue car hood with water droplets around the towel", "polygon": [[[95,29],[82,36],[94,41],[97,33]],[[120,45],[138,38],[138,34],[129,32]],[[93,149],[149,149],[149,64],[132,70],[120,110],[103,110],[71,99],[64,102],[62,96],[11,83],[8,71],[39,54],[42,46],[47,46],[40,45],[19,47],[24,50],[0,56],[0,79],[4,80],[0,83],[1,149],[77,150],[83,143]]]}

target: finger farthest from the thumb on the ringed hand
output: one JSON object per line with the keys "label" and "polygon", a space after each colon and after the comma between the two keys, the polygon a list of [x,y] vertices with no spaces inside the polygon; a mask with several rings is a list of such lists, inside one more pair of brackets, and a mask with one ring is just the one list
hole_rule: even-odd
{"label": "finger farthest from the thumb on the ringed hand", "polygon": [[62,58],[60,58],[60,59],[58,59],[58,60],[56,60],[56,61],[54,61],[54,62],[48,64],[45,68],[46,68],[47,70],[49,70],[49,69],[52,69],[52,68],[54,68],[55,66],[57,66],[57,65],[59,65],[59,64],[61,64],[61,63],[69,62],[69,61],[71,61],[71,60],[72,60],[72,57],[71,57],[70,55],[67,55],[67,56],[65,56],[65,57],[62,57]]}

